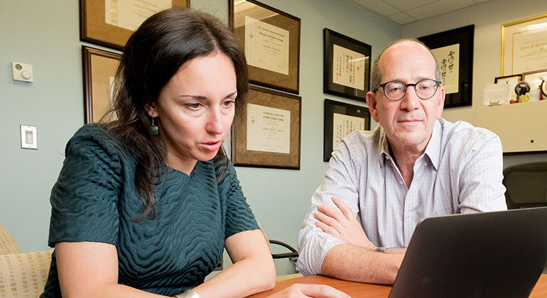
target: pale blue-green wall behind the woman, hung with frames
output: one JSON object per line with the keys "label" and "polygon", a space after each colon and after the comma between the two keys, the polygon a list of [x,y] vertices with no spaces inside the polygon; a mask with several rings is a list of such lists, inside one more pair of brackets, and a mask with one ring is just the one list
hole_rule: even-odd
{"label": "pale blue-green wall behind the woman, hung with frames", "polygon": [[[301,19],[300,170],[237,171],[268,236],[296,246],[310,195],[326,169],[323,100],[361,104],[323,94],[323,28],[372,45],[375,57],[401,36],[401,26],[349,0],[263,2]],[[227,21],[227,0],[191,4]],[[0,0],[0,40],[0,225],[13,233],[21,250],[43,250],[48,248],[50,189],[65,143],[83,124],[81,45],[89,44],[80,42],[78,1]],[[33,65],[34,82],[13,82],[11,62]],[[20,148],[21,124],[38,126],[38,150]],[[278,264],[279,273],[285,267],[290,265]]]}

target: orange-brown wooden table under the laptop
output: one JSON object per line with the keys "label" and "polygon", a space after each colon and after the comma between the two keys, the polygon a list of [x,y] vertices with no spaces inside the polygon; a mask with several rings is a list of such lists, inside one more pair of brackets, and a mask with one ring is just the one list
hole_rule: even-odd
{"label": "orange-brown wooden table under the laptop", "polygon": [[[249,296],[249,298],[261,298],[268,297],[269,295],[279,292],[286,287],[289,287],[293,284],[321,284],[321,285],[330,285],[340,291],[345,292],[353,298],[357,297],[367,297],[367,298],[386,298],[389,296],[389,291],[391,290],[390,286],[386,285],[372,285],[364,284],[361,282],[347,282],[345,280],[337,280],[331,277],[325,277],[322,275],[308,275],[304,277],[297,277],[291,280],[283,280],[276,283],[276,287],[273,289],[261,292],[259,294],[254,294]],[[536,287],[530,294],[530,298],[545,298],[547,297],[547,274],[542,274],[539,277]]]}

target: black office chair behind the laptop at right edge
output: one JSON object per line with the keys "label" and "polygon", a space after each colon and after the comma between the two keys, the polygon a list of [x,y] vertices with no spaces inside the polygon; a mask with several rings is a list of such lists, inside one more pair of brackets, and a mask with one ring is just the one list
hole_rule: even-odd
{"label": "black office chair behind the laptop at right edge", "polygon": [[511,165],[503,173],[507,209],[547,206],[547,162]]}

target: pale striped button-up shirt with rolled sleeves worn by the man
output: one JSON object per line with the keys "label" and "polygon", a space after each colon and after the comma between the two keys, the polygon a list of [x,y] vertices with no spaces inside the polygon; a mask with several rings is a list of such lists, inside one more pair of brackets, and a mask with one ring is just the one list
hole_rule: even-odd
{"label": "pale striped button-up shirt with rolled sleeves worn by the man", "polygon": [[381,126],[351,133],[332,153],[325,180],[313,194],[298,233],[296,268],[305,275],[320,274],[325,255],[342,243],[315,226],[318,204],[335,207],[332,196],[343,199],[355,214],[360,211],[374,245],[405,248],[424,217],[507,209],[502,170],[498,136],[441,118],[406,187]]}

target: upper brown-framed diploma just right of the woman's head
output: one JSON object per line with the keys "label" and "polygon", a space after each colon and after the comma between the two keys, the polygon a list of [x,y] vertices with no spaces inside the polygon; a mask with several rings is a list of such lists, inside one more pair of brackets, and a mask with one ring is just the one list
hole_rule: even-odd
{"label": "upper brown-framed diploma just right of the woman's head", "polygon": [[230,26],[253,84],[298,94],[300,18],[254,0],[229,0]]}

